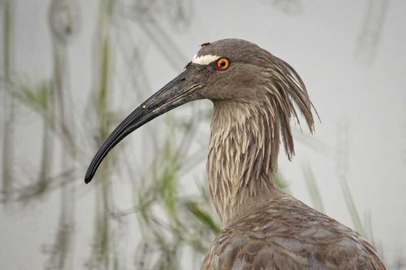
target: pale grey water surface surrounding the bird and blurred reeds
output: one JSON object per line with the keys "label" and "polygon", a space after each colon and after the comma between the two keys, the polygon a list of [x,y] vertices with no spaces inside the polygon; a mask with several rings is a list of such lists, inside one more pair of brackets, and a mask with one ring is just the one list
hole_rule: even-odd
{"label": "pale grey water surface surrounding the bird and blurred reeds", "polygon": [[[364,217],[370,213],[376,245],[384,251],[387,261],[392,263],[396,254],[405,257],[406,2],[280,1],[293,3],[283,6],[278,4],[279,1],[266,0],[193,1],[191,4],[184,1],[186,23],[179,24],[167,15],[173,11],[153,4],[158,6],[155,19],[171,38],[173,47],[178,50],[176,52],[164,40],[159,40],[159,33],[156,41],[156,36],[146,34],[145,28],[126,21],[131,16],[136,16],[125,6],[130,6],[131,2],[136,1],[115,2],[113,27],[117,30],[113,34],[113,42],[124,44],[125,47],[128,45],[126,38],[130,38],[132,44],[141,48],[142,65],[133,68],[140,68],[145,72],[145,80],[139,84],[145,86],[145,92],[140,99],[131,96],[132,90],[126,82],[127,75],[125,72],[121,73],[125,59],[119,56],[120,50],[115,49],[114,91],[127,89],[125,104],[121,108],[120,104],[116,105],[116,108],[122,110],[119,111],[118,118],[123,119],[142,99],[181,72],[200,44],[228,37],[256,43],[296,69],[321,118],[321,124],[316,124],[314,138],[324,146],[316,144],[318,150],[315,150],[296,139],[296,156],[292,162],[281,152],[279,170],[288,181],[291,193],[312,205],[302,172],[303,164],[310,164],[321,192],[325,213],[354,227],[337,174],[337,147],[345,148],[345,145],[337,145],[337,142],[342,136],[340,132],[346,132],[342,127],[345,123],[344,126],[348,125],[348,170],[345,171],[345,176],[361,220],[364,222]],[[15,3],[14,69],[34,81],[50,78],[53,72],[48,25],[50,1],[20,0]],[[72,110],[83,115],[79,112],[85,110],[91,99],[95,72],[98,2],[89,0],[78,3],[79,30],[67,47],[67,65],[73,96]],[[368,9],[371,5],[381,7],[382,3],[385,6],[383,18],[375,18],[382,19],[382,24],[374,26],[374,18],[367,18]],[[148,22],[146,24],[148,28]],[[377,38],[374,39],[374,36]],[[130,51],[129,47],[128,45],[124,50]],[[165,50],[166,56],[162,53]],[[211,107],[209,101],[198,102],[202,107]],[[178,109],[178,113],[182,111],[183,109]],[[28,183],[28,180],[23,179],[26,174],[19,172],[18,167],[27,163],[32,164],[32,167],[28,166],[25,170],[35,170],[38,167],[42,123],[38,115],[26,108],[18,111],[16,119],[13,139],[16,153],[13,161],[17,167],[17,175],[21,177],[19,181]],[[164,123],[163,119],[155,120],[156,126]],[[87,123],[86,121],[83,119],[83,123]],[[307,133],[307,130],[303,131]],[[200,126],[199,132],[202,133],[203,140],[208,140],[208,124]],[[0,134],[3,134],[3,130]],[[134,141],[134,147],[126,150],[120,148],[119,151],[133,151],[137,156],[138,149],[142,148],[142,141],[135,138],[126,138]],[[57,152],[60,149],[57,146]],[[148,156],[148,151],[153,151],[148,147],[142,149],[138,157],[141,159],[139,165],[143,164],[141,155]],[[96,183],[94,181],[85,185],[83,176],[86,168],[78,168],[73,184],[77,193],[71,202],[76,205],[72,269],[85,267],[93,235],[95,195],[92,185]],[[184,175],[181,180],[182,192],[193,194],[196,190],[193,179],[198,175],[201,180],[205,180],[204,172],[205,162],[201,162],[193,171]],[[118,180],[116,177],[113,179],[113,190],[117,208],[132,207],[128,181]],[[49,257],[47,247],[53,243],[59,224],[59,197],[60,192],[56,189],[27,206],[9,204],[2,207],[1,269],[44,268]],[[134,267],[134,246],[140,236],[137,222],[131,215],[127,217],[125,227],[124,236],[118,244],[119,258],[122,265],[131,269]]]}

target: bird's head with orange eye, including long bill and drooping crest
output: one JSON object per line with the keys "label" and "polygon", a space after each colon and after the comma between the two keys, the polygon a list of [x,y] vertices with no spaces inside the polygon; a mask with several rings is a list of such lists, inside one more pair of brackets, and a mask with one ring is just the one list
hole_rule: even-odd
{"label": "bird's head with orange eye, including long bill and drooping crest", "polygon": [[272,109],[289,158],[293,153],[289,121],[292,114],[297,119],[294,104],[313,130],[312,103],[299,75],[289,64],[253,43],[238,39],[219,40],[202,45],[182,73],[118,125],[94,156],[85,182],[90,182],[108,152],[132,131],[197,99],[249,104],[258,110]]}

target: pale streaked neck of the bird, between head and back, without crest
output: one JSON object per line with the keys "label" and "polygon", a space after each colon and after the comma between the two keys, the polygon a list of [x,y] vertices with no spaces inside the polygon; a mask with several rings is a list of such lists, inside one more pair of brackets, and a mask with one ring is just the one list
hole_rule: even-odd
{"label": "pale streaked neck of the bird, between head and back, without crest", "polygon": [[275,182],[279,126],[275,104],[214,101],[207,175],[223,226],[261,199],[280,193]]}

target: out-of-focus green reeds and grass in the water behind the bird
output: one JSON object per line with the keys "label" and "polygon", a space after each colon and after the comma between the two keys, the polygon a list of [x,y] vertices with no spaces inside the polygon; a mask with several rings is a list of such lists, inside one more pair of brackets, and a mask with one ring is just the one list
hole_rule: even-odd
{"label": "out-of-focus green reeds and grass in the water behind the bird", "polygon": [[[289,3],[288,3],[289,2]],[[295,15],[300,12],[299,1],[270,1],[268,5]],[[83,173],[98,146],[103,143],[112,129],[125,116],[117,104],[128,104],[125,100],[127,88],[115,88],[115,82],[128,85],[131,93],[140,103],[151,92],[148,89],[148,70],[143,70],[143,54],[149,45],[154,45],[165,60],[179,70],[188,59],[165,33],[156,19],[165,13],[164,22],[184,31],[192,20],[193,6],[189,1],[120,1],[98,0],[97,27],[94,44],[93,84],[85,111],[77,110],[72,98],[68,48],[75,42],[81,28],[81,10],[78,1],[52,0],[49,7],[49,29],[52,36],[53,74],[50,78],[33,80],[13,69],[15,7],[13,0],[1,2],[3,25],[2,74],[0,80],[2,102],[2,190],[1,202],[7,208],[13,204],[26,206],[32,202],[46,200],[50,192],[60,192],[60,215],[54,243],[44,251],[49,259],[44,265],[49,269],[72,269],[75,241],[75,211],[78,192]],[[289,8],[292,7],[292,8]],[[142,30],[143,36],[134,41],[126,35],[130,24]],[[149,41],[149,43],[146,42]],[[165,44],[165,46],[162,46]],[[123,80],[115,71],[118,57],[124,59],[126,78]],[[128,61],[125,61],[125,60]],[[142,87],[141,87],[142,86]],[[114,91],[113,91],[114,89]],[[148,91],[145,92],[145,89]],[[121,91],[121,92],[120,92]],[[19,110],[37,113],[42,121],[42,148],[38,153],[39,167],[26,164],[16,174],[13,157],[15,147],[12,143],[15,129],[18,128]],[[127,110],[128,109],[128,110]],[[210,110],[189,105],[191,113],[165,115],[164,134],[157,133],[154,124],[138,131],[143,139],[143,151],[148,158],[136,162],[127,155],[124,148],[135,149],[124,141],[120,151],[112,151],[98,169],[92,183],[95,189],[93,239],[88,244],[91,253],[82,264],[89,269],[181,269],[182,260],[188,267],[198,268],[215,235],[221,230],[219,219],[214,211],[206,186],[205,175],[201,174],[189,181],[196,185],[197,193],[184,195],[180,179],[202,166],[206,159],[207,134],[197,132],[200,124],[210,121]],[[123,110],[123,111],[121,111]],[[81,114],[78,114],[81,113]],[[189,116],[190,115],[190,116]],[[303,140],[309,147],[320,151],[337,161],[343,194],[354,222],[355,228],[371,242],[371,225],[362,224],[346,184],[346,127],[339,126],[337,147],[328,147],[316,139]],[[297,140],[303,139],[296,131]],[[344,132],[344,133],[343,133]],[[304,135],[305,137],[307,135]],[[56,142],[61,150],[55,147]],[[148,149],[145,151],[145,149]],[[337,153],[334,151],[337,150]],[[140,157],[138,157],[140,159]],[[55,162],[57,169],[52,169]],[[23,175],[23,176],[21,176]],[[324,212],[317,181],[311,165],[303,165],[303,181],[306,180],[313,207]],[[133,205],[128,209],[118,209],[113,197],[113,180],[127,179],[132,186]],[[278,184],[289,192],[289,184],[282,173],[277,175]],[[123,240],[128,217],[137,218],[138,243]],[[368,229],[366,229],[368,228]],[[39,243],[38,247],[40,252]],[[132,247],[130,247],[132,245]],[[131,263],[124,264],[123,249],[134,249]],[[80,251],[79,251],[80,252]],[[190,267],[192,265],[192,267]],[[402,267],[401,262],[393,268]],[[186,269],[185,268],[185,269]]]}

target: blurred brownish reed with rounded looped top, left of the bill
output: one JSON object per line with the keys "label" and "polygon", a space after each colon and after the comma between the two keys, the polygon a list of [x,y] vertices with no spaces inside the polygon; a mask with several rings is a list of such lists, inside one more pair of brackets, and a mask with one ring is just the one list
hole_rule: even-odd
{"label": "blurred brownish reed with rounded looped top, left of the bill", "polygon": [[[72,94],[70,89],[69,59],[67,47],[71,44],[79,31],[79,7],[74,0],[52,0],[48,13],[48,23],[52,33],[53,49],[53,108],[50,113],[54,115],[55,128],[60,130],[61,134],[74,144],[75,140],[75,121],[71,108],[73,107]],[[52,116],[51,116],[52,117]],[[52,149],[50,144],[49,129],[44,126],[43,151]],[[47,139],[45,141],[45,139]],[[51,141],[52,143],[52,141]],[[47,145],[47,146],[45,146]],[[48,147],[48,148],[47,148]],[[70,171],[75,174],[76,166],[74,159],[76,157],[77,147],[71,149],[71,152],[60,152],[61,171]],[[51,153],[49,153],[49,156]],[[71,156],[70,156],[71,155]],[[43,164],[48,160],[43,159]],[[47,166],[49,167],[49,166]],[[48,169],[49,170],[49,169]],[[72,269],[73,268],[73,243],[75,237],[75,188],[71,180],[63,182],[60,187],[60,216],[57,226],[57,232],[52,245],[50,257],[46,264],[48,269]]]}

